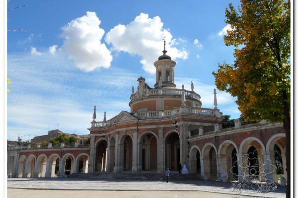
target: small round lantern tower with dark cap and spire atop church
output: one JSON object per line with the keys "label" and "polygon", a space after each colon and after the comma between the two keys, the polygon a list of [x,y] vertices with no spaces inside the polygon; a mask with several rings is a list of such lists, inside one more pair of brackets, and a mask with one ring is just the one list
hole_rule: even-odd
{"label": "small round lantern tower with dark cap and spire atop church", "polygon": [[176,62],[172,60],[171,56],[166,55],[165,40],[163,41],[163,54],[154,62],[156,68],[156,83],[155,88],[158,87],[176,87],[174,84],[174,66]]}

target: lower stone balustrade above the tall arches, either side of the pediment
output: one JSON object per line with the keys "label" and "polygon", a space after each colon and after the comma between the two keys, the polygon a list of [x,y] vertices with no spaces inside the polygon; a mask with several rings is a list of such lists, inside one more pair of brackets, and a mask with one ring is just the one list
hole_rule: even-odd
{"label": "lower stone balustrade above the tall arches, either side of the pediment", "polygon": [[[212,108],[180,106],[178,108],[171,109],[171,110],[139,111],[134,113],[134,116],[136,116],[139,119],[158,119],[158,118],[167,118],[167,117],[181,115],[181,114],[221,117],[223,113],[220,112],[218,109],[212,109]],[[102,127],[111,126],[113,124],[113,119],[107,120],[105,122],[94,122],[92,123],[91,128],[102,128]]]}

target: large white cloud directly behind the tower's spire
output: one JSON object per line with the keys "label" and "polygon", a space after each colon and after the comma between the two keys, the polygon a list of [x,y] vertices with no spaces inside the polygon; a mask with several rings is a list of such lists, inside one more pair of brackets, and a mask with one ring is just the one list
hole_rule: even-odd
{"label": "large white cloud directly behind the tower's spire", "polygon": [[105,41],[112,44],[113,49],[137,54],[142,57],[143,69],[149,73],[155,72],[153,65],[157,57],[162,54],[163,41],[167,43],[167,54],[172,59],[186,59],[188,53],[185,49],[177,49],[174,45],[182,42],[182,39],[173,39],[168,29],[163,28],[159,16],[149,18],[148,14],[141,13],[134,21],[127,25],[119,24],[112,28],[106,35]]}

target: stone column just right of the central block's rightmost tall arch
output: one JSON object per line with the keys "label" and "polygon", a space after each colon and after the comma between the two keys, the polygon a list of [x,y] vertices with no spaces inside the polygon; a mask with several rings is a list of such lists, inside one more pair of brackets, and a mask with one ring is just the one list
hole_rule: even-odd
{"label": "stone column just right of the central block's rightmost tall arch", "polygon": [[189,145],[187,143],[188,137],[188,125],[182,124],[180,126],[180,162],[186,165],[186,168],[189,169]]}

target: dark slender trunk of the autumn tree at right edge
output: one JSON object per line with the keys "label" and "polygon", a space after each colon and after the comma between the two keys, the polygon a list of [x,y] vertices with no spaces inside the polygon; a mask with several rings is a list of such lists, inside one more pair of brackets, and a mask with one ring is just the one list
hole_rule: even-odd
{"label": "dark slender trunk of the autumn tree at right edge", "polygon": [[287,166],[287,194],[286,197],[291,197],[291,117],[288,105],[288,97],[285,90],[283,90],[284,99],[284,128],[286,130],[286,166]]}

